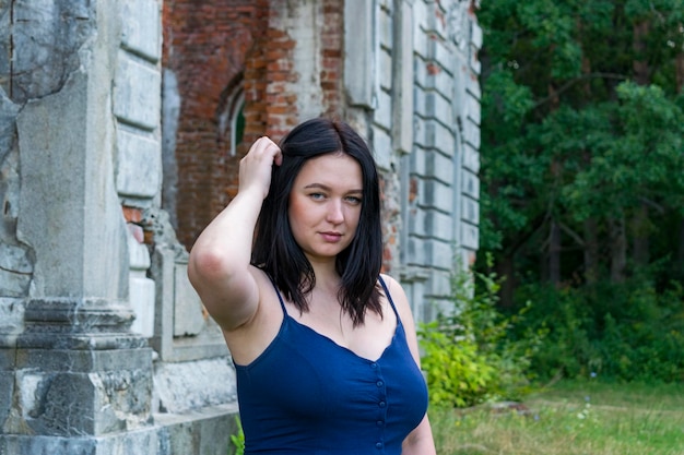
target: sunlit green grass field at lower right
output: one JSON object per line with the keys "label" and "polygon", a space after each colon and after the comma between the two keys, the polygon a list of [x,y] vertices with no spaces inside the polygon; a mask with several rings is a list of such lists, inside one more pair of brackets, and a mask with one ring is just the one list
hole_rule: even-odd
{"label": "sunlit green grass field at lower right", "polygon": [[521,409],[431,409],[438,455],[684,455],[684,384],[559,382]]}

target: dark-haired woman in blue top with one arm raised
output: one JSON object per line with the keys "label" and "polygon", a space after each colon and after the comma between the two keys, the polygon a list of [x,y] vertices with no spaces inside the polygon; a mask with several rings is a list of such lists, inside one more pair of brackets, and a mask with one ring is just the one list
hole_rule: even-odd
{"label": "dark-haired woman in blue top with one arm raised", "polygon": [[435,454],[413,318],[381,259],[356,132],[314,119],[255,142],[188,264],[235,363],[246,454]]}

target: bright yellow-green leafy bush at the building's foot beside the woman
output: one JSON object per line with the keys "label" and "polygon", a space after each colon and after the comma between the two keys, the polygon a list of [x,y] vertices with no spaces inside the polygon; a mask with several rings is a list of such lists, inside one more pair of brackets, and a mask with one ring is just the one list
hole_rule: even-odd
{"label": "bright yellow-green leafy bush at the building's foot beside the woman", "polygon": [[496,310],[496,277],[457,270],[461,272],[451,279],[452,307],[418,327],[431,404],[468,407],[518,398],[526,391],[526,371],[543,331],[511,342],[508,333],[527,309],[504,318]]}

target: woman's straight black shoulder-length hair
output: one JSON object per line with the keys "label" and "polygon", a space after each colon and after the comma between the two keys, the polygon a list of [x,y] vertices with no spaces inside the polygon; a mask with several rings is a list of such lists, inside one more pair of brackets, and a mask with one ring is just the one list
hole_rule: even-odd
{"label": "woman's straight black shoulder-length hair", "polygon": [[299,311],[308,310],[306,297],[314,289],[316,276],[292,235],[290,192],[307,160],[325,154],[346,154],[361,166],[363,194],[354,239],[337,256],[335,268],[342,282],[338,297],[354,326],[364,323],[367,309],[382,316],[378,288],[382,266],[380,188],[368,146],[349,124],[317,118],[294,128],[280,147],[283,161],[273,167],[257,223],[251,263],[263,270]]}

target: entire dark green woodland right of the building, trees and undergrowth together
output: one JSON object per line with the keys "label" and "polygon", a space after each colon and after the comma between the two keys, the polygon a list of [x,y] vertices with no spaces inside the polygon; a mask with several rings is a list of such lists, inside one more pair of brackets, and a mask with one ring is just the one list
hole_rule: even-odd
{"label": "entire dark green woodland right of the building, trees and undergrowth together", "polygon": [[481,249],[500,308],[532,301],[523,326],[549,331],[533,368],[684,379],[684,0],[477,17]]}

